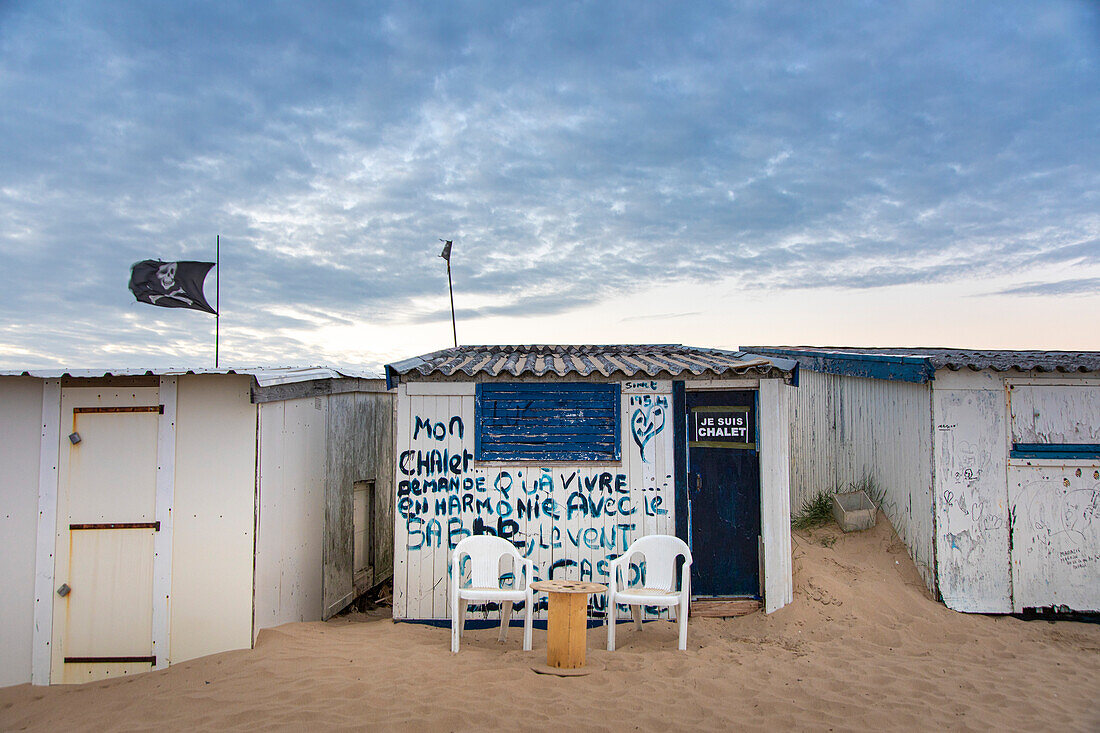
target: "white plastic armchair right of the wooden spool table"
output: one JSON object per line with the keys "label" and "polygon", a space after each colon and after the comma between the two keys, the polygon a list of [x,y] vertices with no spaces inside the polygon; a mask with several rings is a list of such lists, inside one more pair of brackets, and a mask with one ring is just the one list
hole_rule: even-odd
{"label": "white plastic armchair right of the wooden spool table", "polygon": [[[646,560],[645,587],[626,587],[630,577],[630,559],[641,555]],[[680,590],[675,590],[676,558],[684,558],[680,571]],[[619,590],[619,573],[624,588]],[[691,550],[684,540],[672,535],[649,535],[630,543],[626,553],[608,564],[612,579],[607,584],[607,650],[615,650],[616,605],[630,606],[637,628],[641,628],[642,606],[660,605],[675,609],[680,624],[680,649],[688,648],[688,604],[691,602]]]}

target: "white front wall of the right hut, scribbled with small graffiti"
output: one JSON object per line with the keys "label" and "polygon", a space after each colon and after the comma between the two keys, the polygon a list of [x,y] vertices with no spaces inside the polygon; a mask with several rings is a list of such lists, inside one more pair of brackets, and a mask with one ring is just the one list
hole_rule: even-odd
{"label": "white front wall of the right hut, scribbled with small graffiti", "polygon": [[933,397],[944,603],[1100,610],[1100,461],[1009,457],[1013,442],[1100,441],[1100,380],[941,370]]}

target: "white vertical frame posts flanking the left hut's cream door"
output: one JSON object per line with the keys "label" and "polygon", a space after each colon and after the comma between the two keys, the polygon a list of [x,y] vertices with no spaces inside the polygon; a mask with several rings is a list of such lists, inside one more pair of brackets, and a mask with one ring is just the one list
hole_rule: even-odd
{"label": "white vertical frame posts flanking the left hut's cream door", "polygon": [[[96,381],[86,385],[67,383],[65,386],[97,387]],[[153,540],[153,654],[163,669],[170,663],[172,611],[172,507],[176,480],[176,378],[157,380],[157,401],[164,412],[157,418],[156,467],[156,521],[161,530]],[[102,389],[111,389],[102,385]],[[32,636],[31,683],[50,685],[52,679],[54,628],[55,568],[54,553],[57,545],[58,466],[62,440],[62,380],[45,380],[42,390],[42,442],[38,453],[38,526],[35,540],[34,567],[34,630]]]}

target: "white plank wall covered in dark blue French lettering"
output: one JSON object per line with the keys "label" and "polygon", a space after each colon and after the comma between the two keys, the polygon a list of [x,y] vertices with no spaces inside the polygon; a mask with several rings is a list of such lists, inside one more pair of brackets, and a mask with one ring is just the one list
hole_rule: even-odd
{"label": "white plank wall covered in dark blue French lettering", "polygon": [[[656,434],[636,439],[629,427],[634,412],[658,401],[669,418]],[[622,463],[474,466],[474,385],[399,385],[394,617],[448,617],[450,550],[479,519],[494,530],[501,523],[515,522],[514,541],[535,561],[539,579],[606,582],[607,559],[620,555],[632,540],[675,534],[671,405],[670,381],[623,383]],[[455,417],[461,435],[458,423],[452,424]],[[417,418],[432,428],[417,431]],[[449,461],[459,457],[460,471],[446,474],[458,482],[458,491],[450,484],[439,491],[437,483],[424,493],[424,483],[441,474],[428,475],[424,469],[418,474],[417,458],[432,451],[441,456],[444,450]],[[537,514],[520,508],[528,502],[532,510],[538,507]],[[593,597],[597,610],[604,602],[604,597]],[[538,617],[544,617],[544,611]]]}

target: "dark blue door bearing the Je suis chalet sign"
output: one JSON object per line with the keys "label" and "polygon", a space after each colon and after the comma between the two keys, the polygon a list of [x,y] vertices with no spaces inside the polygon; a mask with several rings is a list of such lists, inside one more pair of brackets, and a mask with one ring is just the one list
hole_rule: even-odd
{"label": "dark blue door bearing the Je suis chalet sign", "polygon": [[760,594],[756,392],[686,395],[692,595]]}

